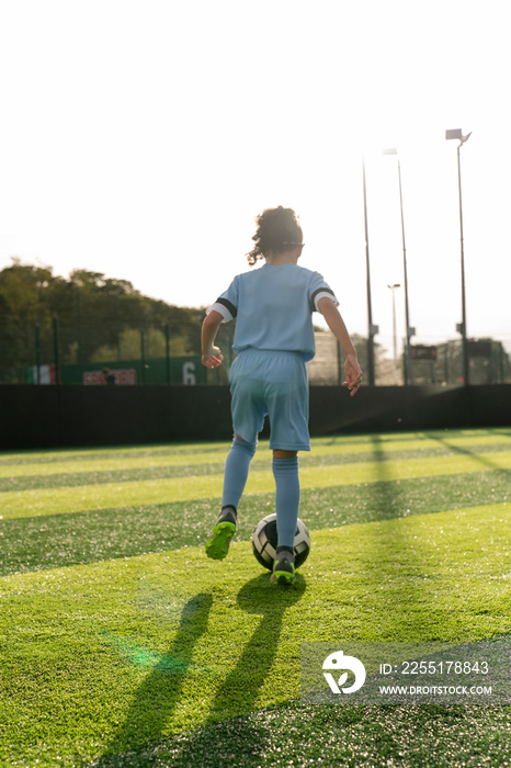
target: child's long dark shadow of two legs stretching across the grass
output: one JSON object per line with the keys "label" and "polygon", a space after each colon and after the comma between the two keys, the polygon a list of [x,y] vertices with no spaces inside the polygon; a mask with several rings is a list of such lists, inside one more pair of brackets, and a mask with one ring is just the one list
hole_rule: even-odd
{"label": "child's long dark shadow of two legs stretching across the grass", "polygon": [[[217,688],[202,726],[194,731],[186,742],[180,739],[179,746],[172,747],[169,741],[161,741],[161,734],[178,708],[186,705],[186,702],[181,702],[181,688],[193,647],[206,631],[212,605],[212,597],[207,594],[197,595],[189,600],[172,647],[139,687],[124,724],[107,750],[92,765],[96,768],[152,766],[162,765],[161,759],[167,757],[177,766],[192,763],[201,765],[201,755],[207,755],[211,748],[207,735],[211,727],[217,726],[215,732],[218,733],[222,732],[224,723],[224,759],[225,765],[228,765],[232,726],[227,721],[257,709],[258,697],[276,657],[285,612],[303,597],[305,588],[306,584],[300,574],[297,574],[292,587],[284,588],[270,585],[266,573],[251,579],[240,589],[237,596],[239,608],[248,613],[261,615],[261,621],[248,640],[236,666]],[[222,647],[212,648],[212,655],[219,656],[223,653]],[[286,697],[285,688],[275,692]],[[247,721],[241,742],[230,745],[236,759],[242,756],[243,766],[260,763],[265,731],[265,726],[260,727]]]}

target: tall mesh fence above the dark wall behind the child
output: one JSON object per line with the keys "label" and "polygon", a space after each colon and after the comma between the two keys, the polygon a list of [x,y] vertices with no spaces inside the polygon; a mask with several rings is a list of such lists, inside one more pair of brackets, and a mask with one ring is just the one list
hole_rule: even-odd
{"label": "tall mesh fence above the dark wall behind the child", "polygon": [[[201,363],[201,326],[155,326],[120,328],[88,319],[80,325],[57,318],[45,324],[0,323],[1,384],[228,384],[234,360],[235,324],[222,325],[217,343],[225,364],[215,370]],[[353,335],[363,371],[367,370],[367,341]],[[470,384],[511,383],[510,355],[500,341],[470,340]],[[375,383],[379,386],[404,384],[404,358],[390,360],[375,345]],[[344,355],[329,331],[316,331],[316,357],[307,363],[314,386],[341,385]],[[365,382],[367,383],[367,382]],[[461,341],[412,347],[411,383],[463,383]]]}

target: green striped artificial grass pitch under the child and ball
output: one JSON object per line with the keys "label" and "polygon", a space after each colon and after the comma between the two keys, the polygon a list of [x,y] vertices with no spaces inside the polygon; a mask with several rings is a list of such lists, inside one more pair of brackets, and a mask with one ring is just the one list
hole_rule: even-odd
{"label": "green striped artificial grass pitch under the child and ball", "polygon": [[0,765],[510,766],[511,707],[306,707],[299,652],[511,633],[511,429],[315,439],[288,589],[265,443],[204,554],[228,448],[0,454]]}

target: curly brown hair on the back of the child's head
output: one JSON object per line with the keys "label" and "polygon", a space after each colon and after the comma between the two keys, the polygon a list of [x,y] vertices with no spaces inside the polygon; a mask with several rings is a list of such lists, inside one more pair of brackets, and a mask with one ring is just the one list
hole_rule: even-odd
{"label": "curly brown hair on the back of the child's head", "polygon": [[250,267],[253,267],[258,259],[271,253],[282,253],[302,244],[302,227],[293,208],[284,208],[282,205],[265,208],[256,218],[256,224],[258,228],[252,237],[256,246],[247,253]]}

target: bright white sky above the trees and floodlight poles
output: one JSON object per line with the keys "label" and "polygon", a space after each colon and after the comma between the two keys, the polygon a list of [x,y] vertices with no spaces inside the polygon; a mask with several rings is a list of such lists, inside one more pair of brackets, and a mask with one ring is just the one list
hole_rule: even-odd
{"label": "bright white sky above the trees and floodlight poles", "polygon": [[[254,217],[300,216],[303,266],[376,338],[402,285],[415,342],[456,338],[456,146],[470,337],[511,349],[511,48],[506,0],[1,0],[0,269],[129,280],[212,303],[248,269]],[[397,334],[405,334],[402,287]],[[317,316],[316,319],[319,319]]]}

